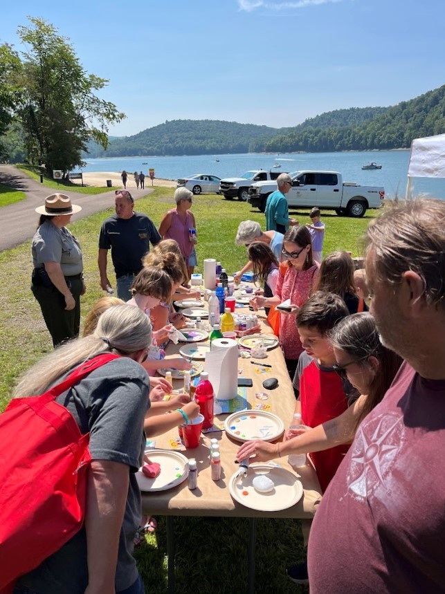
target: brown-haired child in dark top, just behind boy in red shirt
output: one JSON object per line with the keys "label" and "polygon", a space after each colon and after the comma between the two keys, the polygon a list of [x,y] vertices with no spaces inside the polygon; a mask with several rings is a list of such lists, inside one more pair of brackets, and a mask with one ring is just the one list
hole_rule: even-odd
{"label": "brown-haired child in dark top, just behind boy in red shirt", "polygon": [[367,311],[367,305],[356,294],[354,261],[347,252],[338,250],[325,257],[320,266],[315,290],[339,295],[345,301],[349,313]]}

